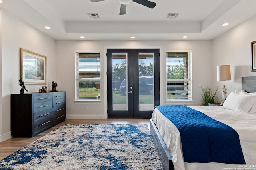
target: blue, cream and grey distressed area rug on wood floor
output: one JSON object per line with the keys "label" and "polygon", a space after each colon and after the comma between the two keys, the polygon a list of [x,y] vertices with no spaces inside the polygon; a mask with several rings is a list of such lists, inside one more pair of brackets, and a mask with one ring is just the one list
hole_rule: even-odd
{"label": "blue, cream and grey distressed area rug on wood floor", "polygon": [[0,161],[0,170],[160,170],[148,125],[66,124]]}

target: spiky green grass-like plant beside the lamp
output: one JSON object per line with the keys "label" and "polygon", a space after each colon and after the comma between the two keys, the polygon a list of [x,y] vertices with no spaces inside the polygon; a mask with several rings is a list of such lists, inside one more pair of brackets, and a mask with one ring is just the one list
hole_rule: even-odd
{"label": "spiky green grass-like plant beside the lamp", "polygon": [[218,96],[216,95],[217,90],[212,91],[212,88],[210,86],[206,86],[205,88],[202,88],[203,94],[202,94],[202,106],[208,106],[208,103],[217,103]]}

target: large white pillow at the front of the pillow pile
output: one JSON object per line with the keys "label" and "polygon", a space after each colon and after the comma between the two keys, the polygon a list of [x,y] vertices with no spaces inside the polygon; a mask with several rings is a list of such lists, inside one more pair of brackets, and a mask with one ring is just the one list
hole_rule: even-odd
{"label": "large white pillow at the front of the pillow pile", "polygon": [[256,96],[231,92],[223,103],[223,108],[242,113],[254,113],[256,112],[256,107],[252,107],[254,105],[256,105]]}

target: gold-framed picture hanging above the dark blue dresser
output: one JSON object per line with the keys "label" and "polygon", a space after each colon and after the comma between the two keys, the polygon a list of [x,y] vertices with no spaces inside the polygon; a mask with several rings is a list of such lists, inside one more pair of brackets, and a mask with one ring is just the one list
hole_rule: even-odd
{"label": "gold-framed picture hanging above the dark blue dresser", "polygon": [[46,84],[46,56],[20,48],[20,77],[24,84]]}

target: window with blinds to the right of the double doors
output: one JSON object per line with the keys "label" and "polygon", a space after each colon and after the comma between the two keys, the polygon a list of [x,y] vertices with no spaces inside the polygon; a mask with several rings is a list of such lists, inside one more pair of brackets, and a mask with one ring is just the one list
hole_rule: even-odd
{"label": "window with blinds to the right of the double doors", "polygon": [[166,99],[192,100],[192,52],[167,52],[166,56]]}

